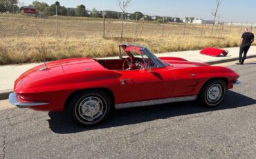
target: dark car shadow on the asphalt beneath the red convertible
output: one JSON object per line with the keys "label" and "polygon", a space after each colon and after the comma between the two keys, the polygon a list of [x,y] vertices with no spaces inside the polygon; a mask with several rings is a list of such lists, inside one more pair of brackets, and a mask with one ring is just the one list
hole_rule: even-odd
{"label": "dark car shadow on the asphalt beneath the red convertible", "polygon": [[158,119],[173,118],[180,115],[190,115],[196,113],[204,113],[210,111],[219,111],[225,109],[235,109],[242,106],[250,106],[256,104],[256,100],[227,91],[223,102],[214,108],[205,108],[197,102],[179,102],[171,104],[161,104],[155,106],[145,106],[134,109],[116,110],[109,116],[108,120],[96,127],[79,127],[74,124],[65,112],[49,112],[49,126],[55,133],[77,133],[80,131],[89,131],[95,129],[105,129],[110,127],[119,127],[129,124],[138,124]]}

